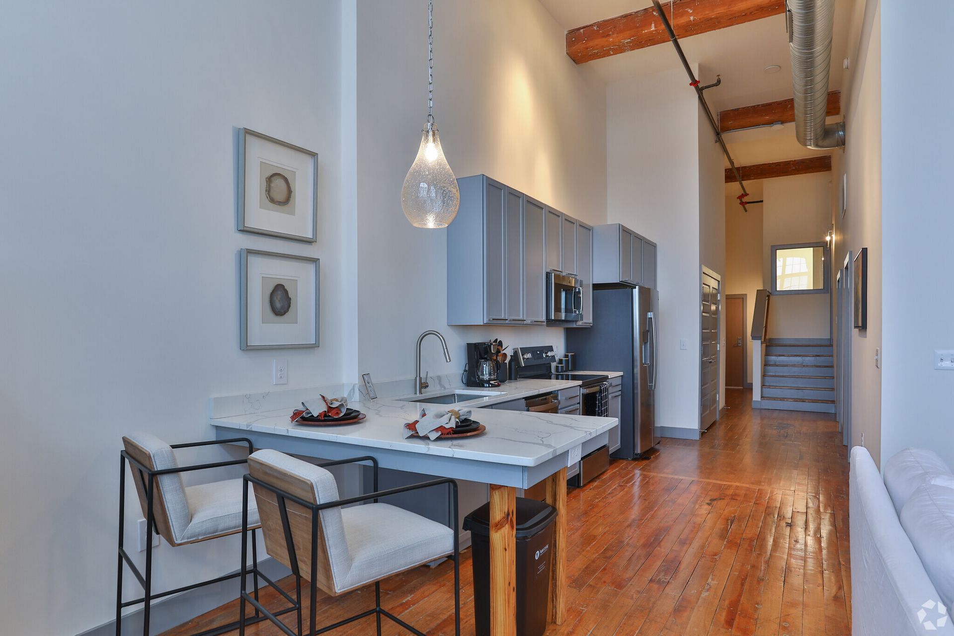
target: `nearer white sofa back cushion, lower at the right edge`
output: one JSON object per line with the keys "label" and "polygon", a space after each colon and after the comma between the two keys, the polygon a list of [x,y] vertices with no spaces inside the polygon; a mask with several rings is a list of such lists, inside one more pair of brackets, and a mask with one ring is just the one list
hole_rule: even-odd
{"label": "nearer white sofa back cushion, lower at the right edge", "polygon": [[923,483],[904,503],[901,525],[940,600],[954,607],[954,488]]}

